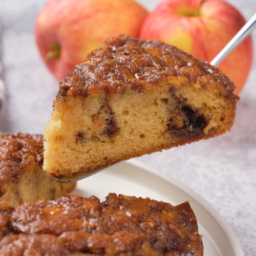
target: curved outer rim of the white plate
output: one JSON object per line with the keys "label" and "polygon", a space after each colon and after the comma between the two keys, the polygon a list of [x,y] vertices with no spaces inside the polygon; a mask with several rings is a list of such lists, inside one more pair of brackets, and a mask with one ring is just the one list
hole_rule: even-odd
{"label": "curved outer rim of the white plate", "polygon": [[223,217],[219,214],[219,212],[213,206],[211,206],[210,203],[208,203],[203,197],[201,197],[195,190],[191,189],[186,184],[172,177],[170,174],[161,172],[159,169],[149,166],[146,163],[143,163],[137,159],[130,159],[125,161],[124,163],[135,165],[137,167],[144,169],[146,172],[159,176],[163,180],[171,183],[173,186],[178,187],[179,189],[183,190],[186,194],[193,197],[199,204],[201,204],[209,212],[209,214],[222,227],[230,244],[233,247],[234,252],[236,253],[235,256],[244,256],[242,246],[236,234],[234,234],[234,231],[232,230],[231,226],[223,219]]}

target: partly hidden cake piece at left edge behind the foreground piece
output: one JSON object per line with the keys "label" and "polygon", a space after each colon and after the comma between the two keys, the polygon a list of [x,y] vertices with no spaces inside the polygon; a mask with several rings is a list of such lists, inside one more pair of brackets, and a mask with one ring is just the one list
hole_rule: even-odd
{"label": "partly hidden cake piece at left edge behind the foreground piece", "polygon": [[0,133],[0,201],[17,206],[57,199],[75,187],[57,182],[42,170],[43,141],[42,135]]}

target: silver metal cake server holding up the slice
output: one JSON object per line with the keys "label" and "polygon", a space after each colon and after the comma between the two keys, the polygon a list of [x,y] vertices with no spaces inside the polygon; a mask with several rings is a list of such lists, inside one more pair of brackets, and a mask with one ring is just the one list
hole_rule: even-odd
{"label": "silver metal cake server holding up the slice", "polygon": [[[255,26],[256,26],[256,13],[254,13],[254,15],[248,20],[248,22],[228,42],[228,44],[210,62],[210,64],[212,66],[218,66],[221,63],[221,61],[251,33],[251,31],[255,28]],[[107,169],[111,166],[114,166],[116,164],[87,170],[86,172],[75,173],[71,177],[58,176],[58,177],[54,177],[54,178],[57,181],[60,181],[60,182],[63,182],[63,183],[71,183],[71,182],[79,181],[79,180],[82,180],[84,178],[90,177],[90,176],[92,176],[94,174],[97,174],[97,173],[101,172],[102,170],[105,170],[105,169]]]}

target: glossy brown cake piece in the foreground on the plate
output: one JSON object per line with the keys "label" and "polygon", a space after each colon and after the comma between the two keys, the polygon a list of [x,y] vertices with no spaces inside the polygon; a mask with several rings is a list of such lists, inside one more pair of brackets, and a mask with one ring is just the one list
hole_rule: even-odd
{"label": "glossy brown cake piece in the foreground on the plate", "polygon": [[0,254],[202,256],[203,243],[188,202],[66,195],[16,209],[0,202]]}

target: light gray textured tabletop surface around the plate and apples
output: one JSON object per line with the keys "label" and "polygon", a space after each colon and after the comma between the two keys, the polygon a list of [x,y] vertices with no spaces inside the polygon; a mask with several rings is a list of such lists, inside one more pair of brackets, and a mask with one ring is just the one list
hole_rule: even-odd
{"label": "light gray textured tabletop surface around the plate and apples", "polygon": [[[0,1],[8,95],[0,131],[42,133],[49,121],[58,83],[41,62],[33,35],[36,14],[45,2]],[[160,1],[139,2],[152,9]],[[254,0],[229,2],[247,19],[256,10]],[[254,58],[231,132],[140,158],[184,182],[214,206],[231,225],[246,255],[256,255],[255,67]]]}

